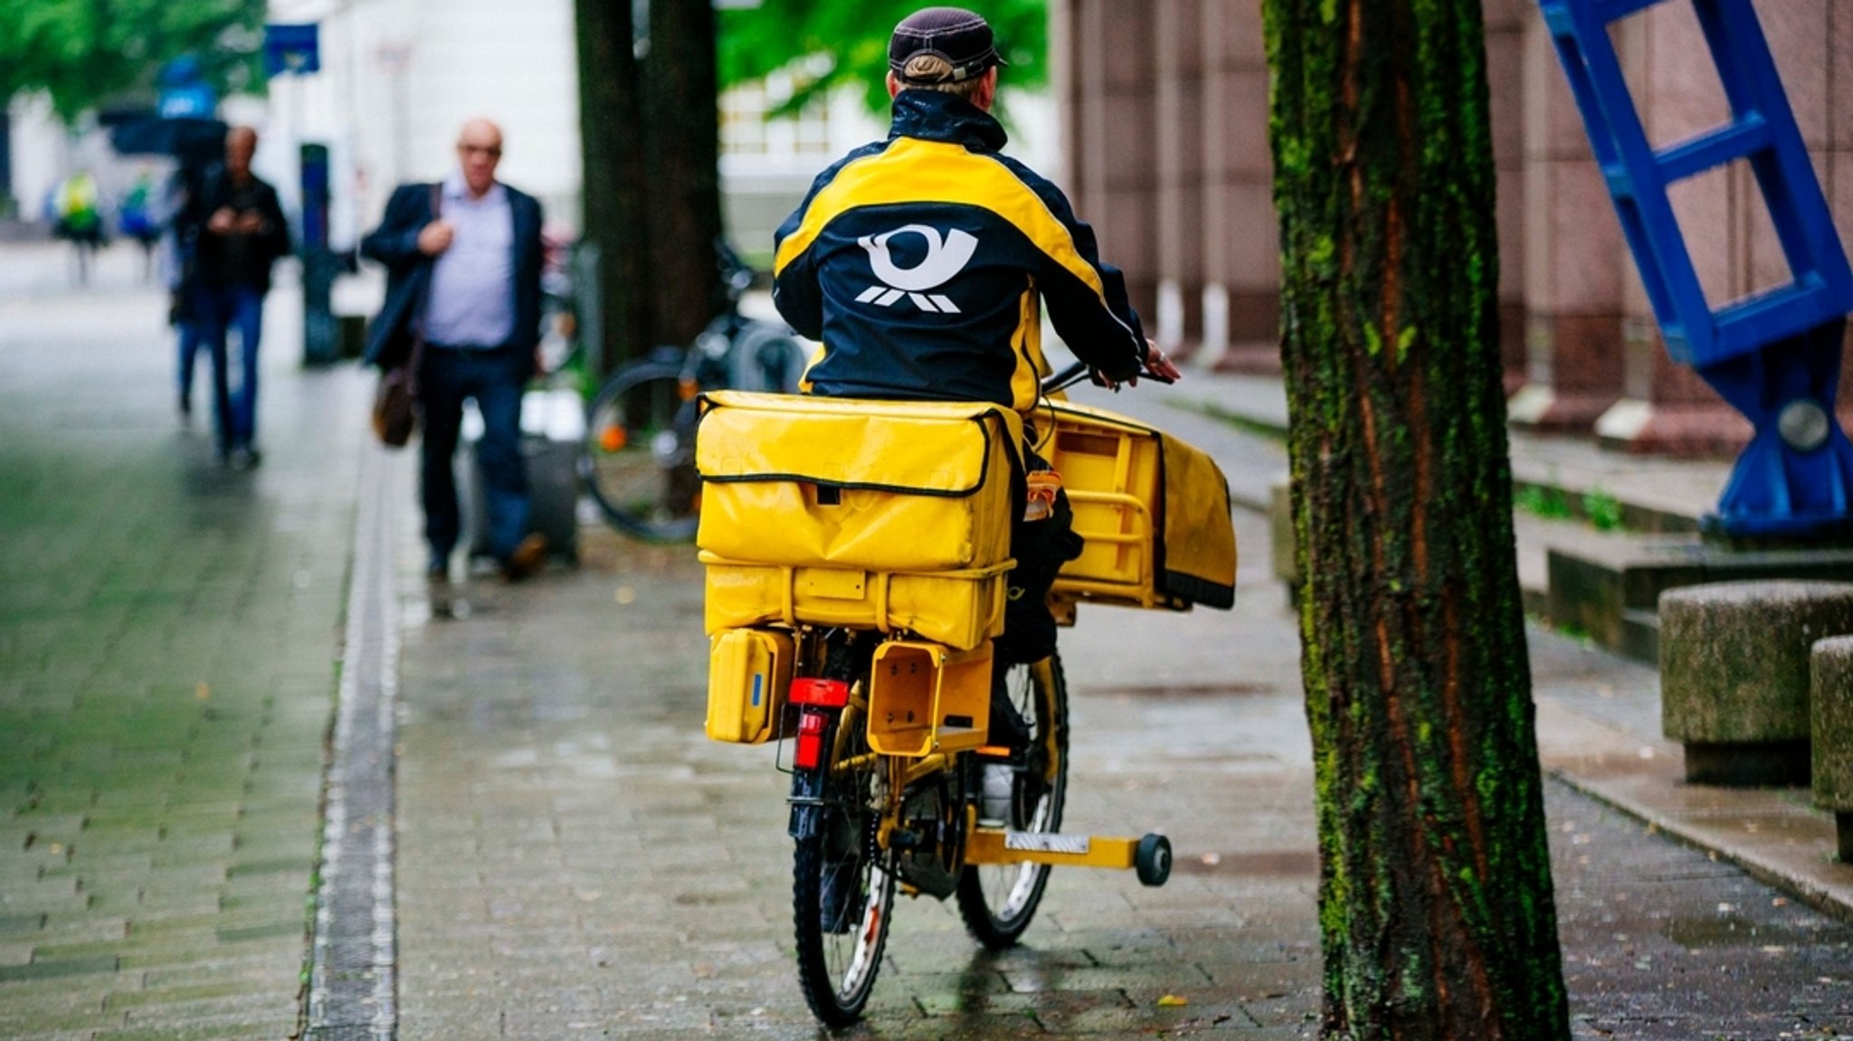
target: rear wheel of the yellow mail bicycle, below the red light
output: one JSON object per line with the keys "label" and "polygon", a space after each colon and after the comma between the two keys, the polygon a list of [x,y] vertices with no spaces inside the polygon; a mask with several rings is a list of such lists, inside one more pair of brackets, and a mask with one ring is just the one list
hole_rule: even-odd
{"label": "rear wheel of the yellow mail bicycle, below the red light", "polygon": [[804,1000],[826,1026],[847,1026],[882,967],[895,872],[893,854],[876,845],[888,778],[862,713],[845,709],[830,745],[823,821],[793,854],[791,911]]}

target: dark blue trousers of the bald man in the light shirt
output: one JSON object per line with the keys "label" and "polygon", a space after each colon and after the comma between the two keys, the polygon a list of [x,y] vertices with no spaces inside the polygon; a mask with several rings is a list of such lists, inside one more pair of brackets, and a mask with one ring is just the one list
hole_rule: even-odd
{"label": "dark blue trousers of the bald man in the light shirt", "polygon": [[424,411],[421,461],[424,541],[432,548],[432,569],[447,565],[461,530],[452,458],[467,398],[474,398],[476,411],[482,413],[476,463],[482,467],[487,500],[489,552],[497,559],[508,559],[528,533],[528,470],[521,461],[521,391],[528,383],[528,365],[530,359],[510,346],[424,348],[419,374],[419,404]]}

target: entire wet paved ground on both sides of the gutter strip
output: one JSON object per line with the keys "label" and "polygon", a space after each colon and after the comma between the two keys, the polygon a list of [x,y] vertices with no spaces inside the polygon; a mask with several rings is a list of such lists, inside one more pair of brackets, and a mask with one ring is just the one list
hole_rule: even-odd
{"label": "entire wet paved ground on both sides of the gutter strip", "polygon": [[[410,495],[410,458],[369,456],[365,376],[296,370],[291,293],[272,302],[265,465],[228,474],[174,422],[158,295],[0,300],[0,1037],[300,1026],[356,506]],[[1166,415],[1232,482],[1271,465],[1262,435]],[[359,480],[378,467],[397,483]],[[471,580],[469,615],[437,622],[415,522],[389,563],[398,1034],[817,1037],[784,776],[702,737],[691,554],[587,528],[578,569]],[[1058,871],[999,956],[902,900],[849,1035],[1317,1034],[1297,633],[1262,517],[1238,532],[1232,613],[1086,609],[1064,637],[1067,824],[1166,832],[1171,884]],[[1651,671],[1531,641],[1553,771],[1625,804],[1677,769]],[[1703,795],[1694,819],[1746,819]],[[1575,1037],[1853,1032],[1853,928],[1569,784],[1547,815]]]}

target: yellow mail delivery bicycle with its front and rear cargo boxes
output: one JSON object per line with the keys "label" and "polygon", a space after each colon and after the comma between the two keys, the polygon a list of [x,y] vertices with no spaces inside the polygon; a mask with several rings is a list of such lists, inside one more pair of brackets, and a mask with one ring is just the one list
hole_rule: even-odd
{"label": "yellow mail delivery bicycle with its front and rear cargo boxes", "polygon": [[[1025,420],[986,402],[736,391],[704,395],[700,409],[706,726],[715,741],[793,739],[780,746],[793,922],[817,1019],[860,1019],[897,891],[952,898],[978,943],[1006,948],[1053,865],[1136,869],[1162,885],[1162,835],[1060,832],[1069,717],[1058,654],[1006,671],[1028,739],[991,743],[991,637],[1015,563],[1010,474]],[[1058,622],[1073,624],[1080,602],[1234,602],[1229,485],[1208,456],[1060,400],[1032,424],[1086,541],[1051,591]]]}

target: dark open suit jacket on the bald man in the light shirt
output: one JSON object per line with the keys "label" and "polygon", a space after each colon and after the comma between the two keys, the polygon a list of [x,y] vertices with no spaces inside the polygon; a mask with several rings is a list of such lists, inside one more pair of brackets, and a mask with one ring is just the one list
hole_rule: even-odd
{"label": "dark open suit jacket on the bald man in the light shirt", "polygon": [[[513,346],[532,357],[541,341],[541,204],[502,187],[515,220]],[[432,257],[419,252],[419,232],[432,220],[432,185],[398,185],[380,226],[359,241],[361,254],[385,265],[385,304],[367,328],[369,365],[389,369],[411,350],[413,322],[432,287]]]}

